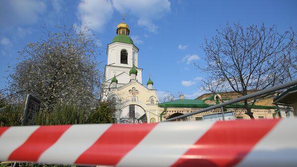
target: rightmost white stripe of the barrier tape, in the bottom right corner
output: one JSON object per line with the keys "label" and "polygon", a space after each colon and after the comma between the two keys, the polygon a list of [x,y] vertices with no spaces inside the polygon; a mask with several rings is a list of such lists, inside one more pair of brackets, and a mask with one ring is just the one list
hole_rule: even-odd
{"label": "rightmost white stripe of the barrier tape, in the bottom right corner", "polygon": [[297,167],[296,119],[281,119],[237,167]]}

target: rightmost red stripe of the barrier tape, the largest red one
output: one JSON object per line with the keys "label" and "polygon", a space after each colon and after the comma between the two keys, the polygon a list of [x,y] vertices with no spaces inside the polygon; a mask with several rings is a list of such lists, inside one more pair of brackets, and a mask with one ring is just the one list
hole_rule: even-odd
{"label": "rightmost red stripe of the barrier tape, the largest red one", "polygon": [[277,122],[218,121],[172,167],[233,167]]}

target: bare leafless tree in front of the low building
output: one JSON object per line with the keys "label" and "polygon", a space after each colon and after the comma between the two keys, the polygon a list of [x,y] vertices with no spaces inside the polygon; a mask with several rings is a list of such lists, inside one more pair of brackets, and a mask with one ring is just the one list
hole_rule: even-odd
{"label": "bare leafless tree in front of the low building", "polygon": [[[276,26],[260,27],[240,24],[220,27],[217,35],[205,38],[202,49],[206,65],[196,66],[208,76],[202,87],[213,93],[235,91],[245,96],[296,78],[297,56],[295,33],[291,29],[278,33]],[[257,98],[245,100],[246,114],[253,118],[251,108]]]}

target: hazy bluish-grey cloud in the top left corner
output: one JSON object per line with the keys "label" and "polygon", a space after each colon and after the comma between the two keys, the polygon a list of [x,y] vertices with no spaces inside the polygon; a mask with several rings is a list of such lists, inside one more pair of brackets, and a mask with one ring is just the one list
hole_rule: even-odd
{"label": "hazy bluish-grey cloud in the top left corner", "polygon": [[36,23],[46,8],[40,0],[0,0],[0,27]]}

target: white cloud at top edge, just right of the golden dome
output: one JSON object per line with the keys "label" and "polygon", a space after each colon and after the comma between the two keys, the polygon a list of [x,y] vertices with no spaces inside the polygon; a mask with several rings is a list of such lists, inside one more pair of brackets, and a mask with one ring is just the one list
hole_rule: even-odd
{"label": "white cloud at top edge, just right of the golden dome", "polygon": [[158,27],[152,20],[160,18],[170,11],[168,0],[112,0],[116,10],[121,13],[131,13],[138,17],[138,25],[146,27],[150,32],[157,33]]}

